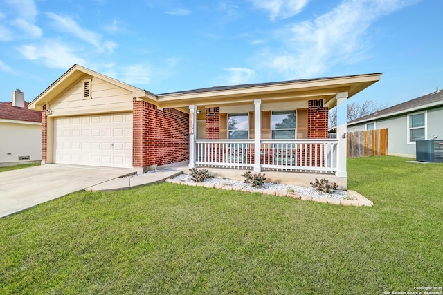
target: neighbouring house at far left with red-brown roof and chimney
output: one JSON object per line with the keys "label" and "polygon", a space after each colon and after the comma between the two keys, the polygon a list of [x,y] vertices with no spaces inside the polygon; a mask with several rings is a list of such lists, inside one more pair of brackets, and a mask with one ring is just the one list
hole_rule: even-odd
{"label": "neighbouring house at far left with red-brown roof and chimney", "polygon": [[0,102],[0,166],[42,159],[42,115],[28,109],[24,93],[12,91],[12,102]]}

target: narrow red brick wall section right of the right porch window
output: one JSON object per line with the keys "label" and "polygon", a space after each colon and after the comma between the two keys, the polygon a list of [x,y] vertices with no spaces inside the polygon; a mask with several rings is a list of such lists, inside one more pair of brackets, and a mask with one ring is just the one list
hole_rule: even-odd
{"label": "narrow red brick wall section right of the right porch window", "polygon": [[[320,104],[319,108],[318,104]],[[324,108],[321,102],[309,100],[307,109],[308,138],[327,138],[328,115],[328,108]]]}

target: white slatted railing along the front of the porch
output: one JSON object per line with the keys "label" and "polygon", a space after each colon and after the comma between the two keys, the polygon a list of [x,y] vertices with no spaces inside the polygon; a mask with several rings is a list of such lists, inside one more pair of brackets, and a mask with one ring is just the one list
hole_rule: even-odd
{"label": "white slatted railing along the front of the porch", "polygon": [[[260,171],[333,173],[338,140],[260,140]],[[254,140],[195,140],[195,166],[253,169]]]}

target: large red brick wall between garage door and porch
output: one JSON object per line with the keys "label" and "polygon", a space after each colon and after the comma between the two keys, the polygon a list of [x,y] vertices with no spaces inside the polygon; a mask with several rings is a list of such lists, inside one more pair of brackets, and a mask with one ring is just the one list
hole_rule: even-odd
{"label": "large red brick wall between garage door and porch", "polygon": [[189,115],[133,99],[132,165],[146,167],[189,160]]}

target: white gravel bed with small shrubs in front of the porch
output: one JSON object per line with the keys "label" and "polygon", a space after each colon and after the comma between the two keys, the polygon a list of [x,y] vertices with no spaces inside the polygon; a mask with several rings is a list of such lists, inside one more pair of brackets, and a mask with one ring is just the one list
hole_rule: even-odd
{"label": "white gravel bed with small shrubs in front of the porch", "polygon": [[[194,180],[191,179],[190,175],[187,174],[181,174],[173,178],[174,180],[179,180],[183,182],[194,182]],[[204,181],[204,183],[210,183],[210,184],[223,184],[223,185],[230,185],[233,187],[242,187],[244,189],[252,189],[253,191],[264,191],[265,189],[270,189],[273,191],[293,191],[295,193],[302,193],[311,197],[316,198],[334,198],[338,200],[343,200],[347,198],[348,200],[356,200],[354,197],[349,196],[346,191],[336,190],[334,193],[323,193],[321,191],[317,191],[313,187],[300,187],[298,185],[292,185],[292,184],[281,184],[281,183],[270,183],[270,182],[264,182],[262,188],[255,188],[252,187],[251,184],[246,184],[239,180],[230,180],[228,178],[208,178]]]}

